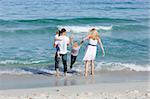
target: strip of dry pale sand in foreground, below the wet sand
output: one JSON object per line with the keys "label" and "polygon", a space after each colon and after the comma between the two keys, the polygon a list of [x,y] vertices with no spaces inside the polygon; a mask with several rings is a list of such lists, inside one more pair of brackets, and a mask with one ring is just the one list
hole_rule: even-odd
{"label": "strip of dry pale sand in foreground, below the wet sand", "polygon": [[149,82],[1,90],[0,99],[149,99]]}

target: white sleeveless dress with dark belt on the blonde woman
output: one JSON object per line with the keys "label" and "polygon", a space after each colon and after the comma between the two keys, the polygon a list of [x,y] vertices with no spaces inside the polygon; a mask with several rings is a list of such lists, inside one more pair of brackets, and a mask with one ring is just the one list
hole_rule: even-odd
{"label": "white sleeveless dress with dark belt on the blonde woman", "polygon": [[97,42],[97,40],[89,39],[89,44],[83,58],[84,61],[95,60],[97,52]]}

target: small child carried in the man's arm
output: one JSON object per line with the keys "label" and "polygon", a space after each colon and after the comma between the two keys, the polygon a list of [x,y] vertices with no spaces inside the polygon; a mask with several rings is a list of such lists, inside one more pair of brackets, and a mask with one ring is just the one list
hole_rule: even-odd
{"label": "small child carried in the man's arm", "polygon": [[59,41],[61,41],[59,39],[59,36],[60,36],[60,31],[57,31],[56,32],[56,35],[55,35],[55,39],[54,39],[54,47],[56,48],[56,52],[57,52],[57,56],[60,57],[60,48],[59,48]]}

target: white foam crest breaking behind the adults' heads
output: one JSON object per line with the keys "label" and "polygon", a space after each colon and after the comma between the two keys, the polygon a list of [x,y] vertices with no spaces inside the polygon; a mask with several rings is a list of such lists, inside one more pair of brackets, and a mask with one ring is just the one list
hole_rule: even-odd
{"label": "white foam crest breaking behind the adults' heads", "polygon": [[97,30],[111,30],[112,26],[58,26],[59,30],[65,28],[68,32],[89,32],[92,28]]}

